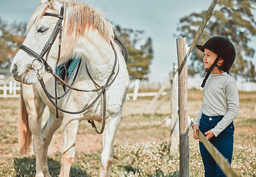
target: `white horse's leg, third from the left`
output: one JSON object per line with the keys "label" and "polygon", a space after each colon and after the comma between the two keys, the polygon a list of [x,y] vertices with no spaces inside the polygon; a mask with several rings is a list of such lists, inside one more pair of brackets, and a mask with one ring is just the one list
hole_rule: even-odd
{"label": "white horse's leg, third from the left", "polygon": [[78,119],[64,118],[63,120],[63,147],[61,156],[60,177],[68,177],[70,167],[75,158],[75,141],[79,121]]}

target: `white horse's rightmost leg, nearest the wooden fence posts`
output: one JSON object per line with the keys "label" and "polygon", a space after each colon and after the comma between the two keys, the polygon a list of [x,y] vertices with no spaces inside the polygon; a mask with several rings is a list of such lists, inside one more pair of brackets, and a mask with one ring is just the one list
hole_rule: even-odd
{"label": "white horse's rightmost leg, nearest the wooden fence posts", "polygon": [[122,116],[122,109],[115,114],[111,114],[109,123],[106,124],[104,134],[102,136],[102,153],[100,176],[110,176],[111,165],[113,162],[113,142],[116,130],[120,124]]}

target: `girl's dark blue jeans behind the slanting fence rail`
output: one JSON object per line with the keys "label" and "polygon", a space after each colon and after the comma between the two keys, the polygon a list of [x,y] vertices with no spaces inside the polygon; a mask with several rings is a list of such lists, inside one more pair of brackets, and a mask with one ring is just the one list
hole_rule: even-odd
{"label": "girl's dark blue jeans behind the slanting fence rail", "polygon": [[[205,114],[202,114],[199,129],[204,134],[214,128],[222,118],[223,116],[206,116]],[[228,125],[228,127],[225,128],[225,130],[223,130],[217,137],[214,136],[209,141],[225,158],[227,158],[228,162],[231,164],[234,146],[233,122],[230,123],[230,125]],[[225,176],[202,142],[199,142],[199,148],[204,162],[205,176]]]}

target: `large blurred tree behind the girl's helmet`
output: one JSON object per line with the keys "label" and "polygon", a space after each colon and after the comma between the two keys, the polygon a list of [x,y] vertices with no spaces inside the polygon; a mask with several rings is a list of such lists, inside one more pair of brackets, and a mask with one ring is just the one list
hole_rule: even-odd
{"label": "large blurred tree behind the girl's helmet", "polygon": [[[255,81],[254,65],[250,61],[255,50],[248,45],[253,36],[256,35],[256,22],[252,10],[255,10],[255,0],[219,0],[215,6],[212,17],[202,33],[199,44],[204,44],[212,36],[223,36],[228,38],[236,48],[236,61],[231,68],[235,77],[238,75],[250,81]],[[191,13],[180,19],[180,26],[177,31],[179,35],[192,43],[196,31],[204,19],[205,11],[202,13]],[[190,74],[203,73],[204,65],[200,50],[193,50],[191,65],[188,66]],[[253,73],[252,73],[253,72]]]}

